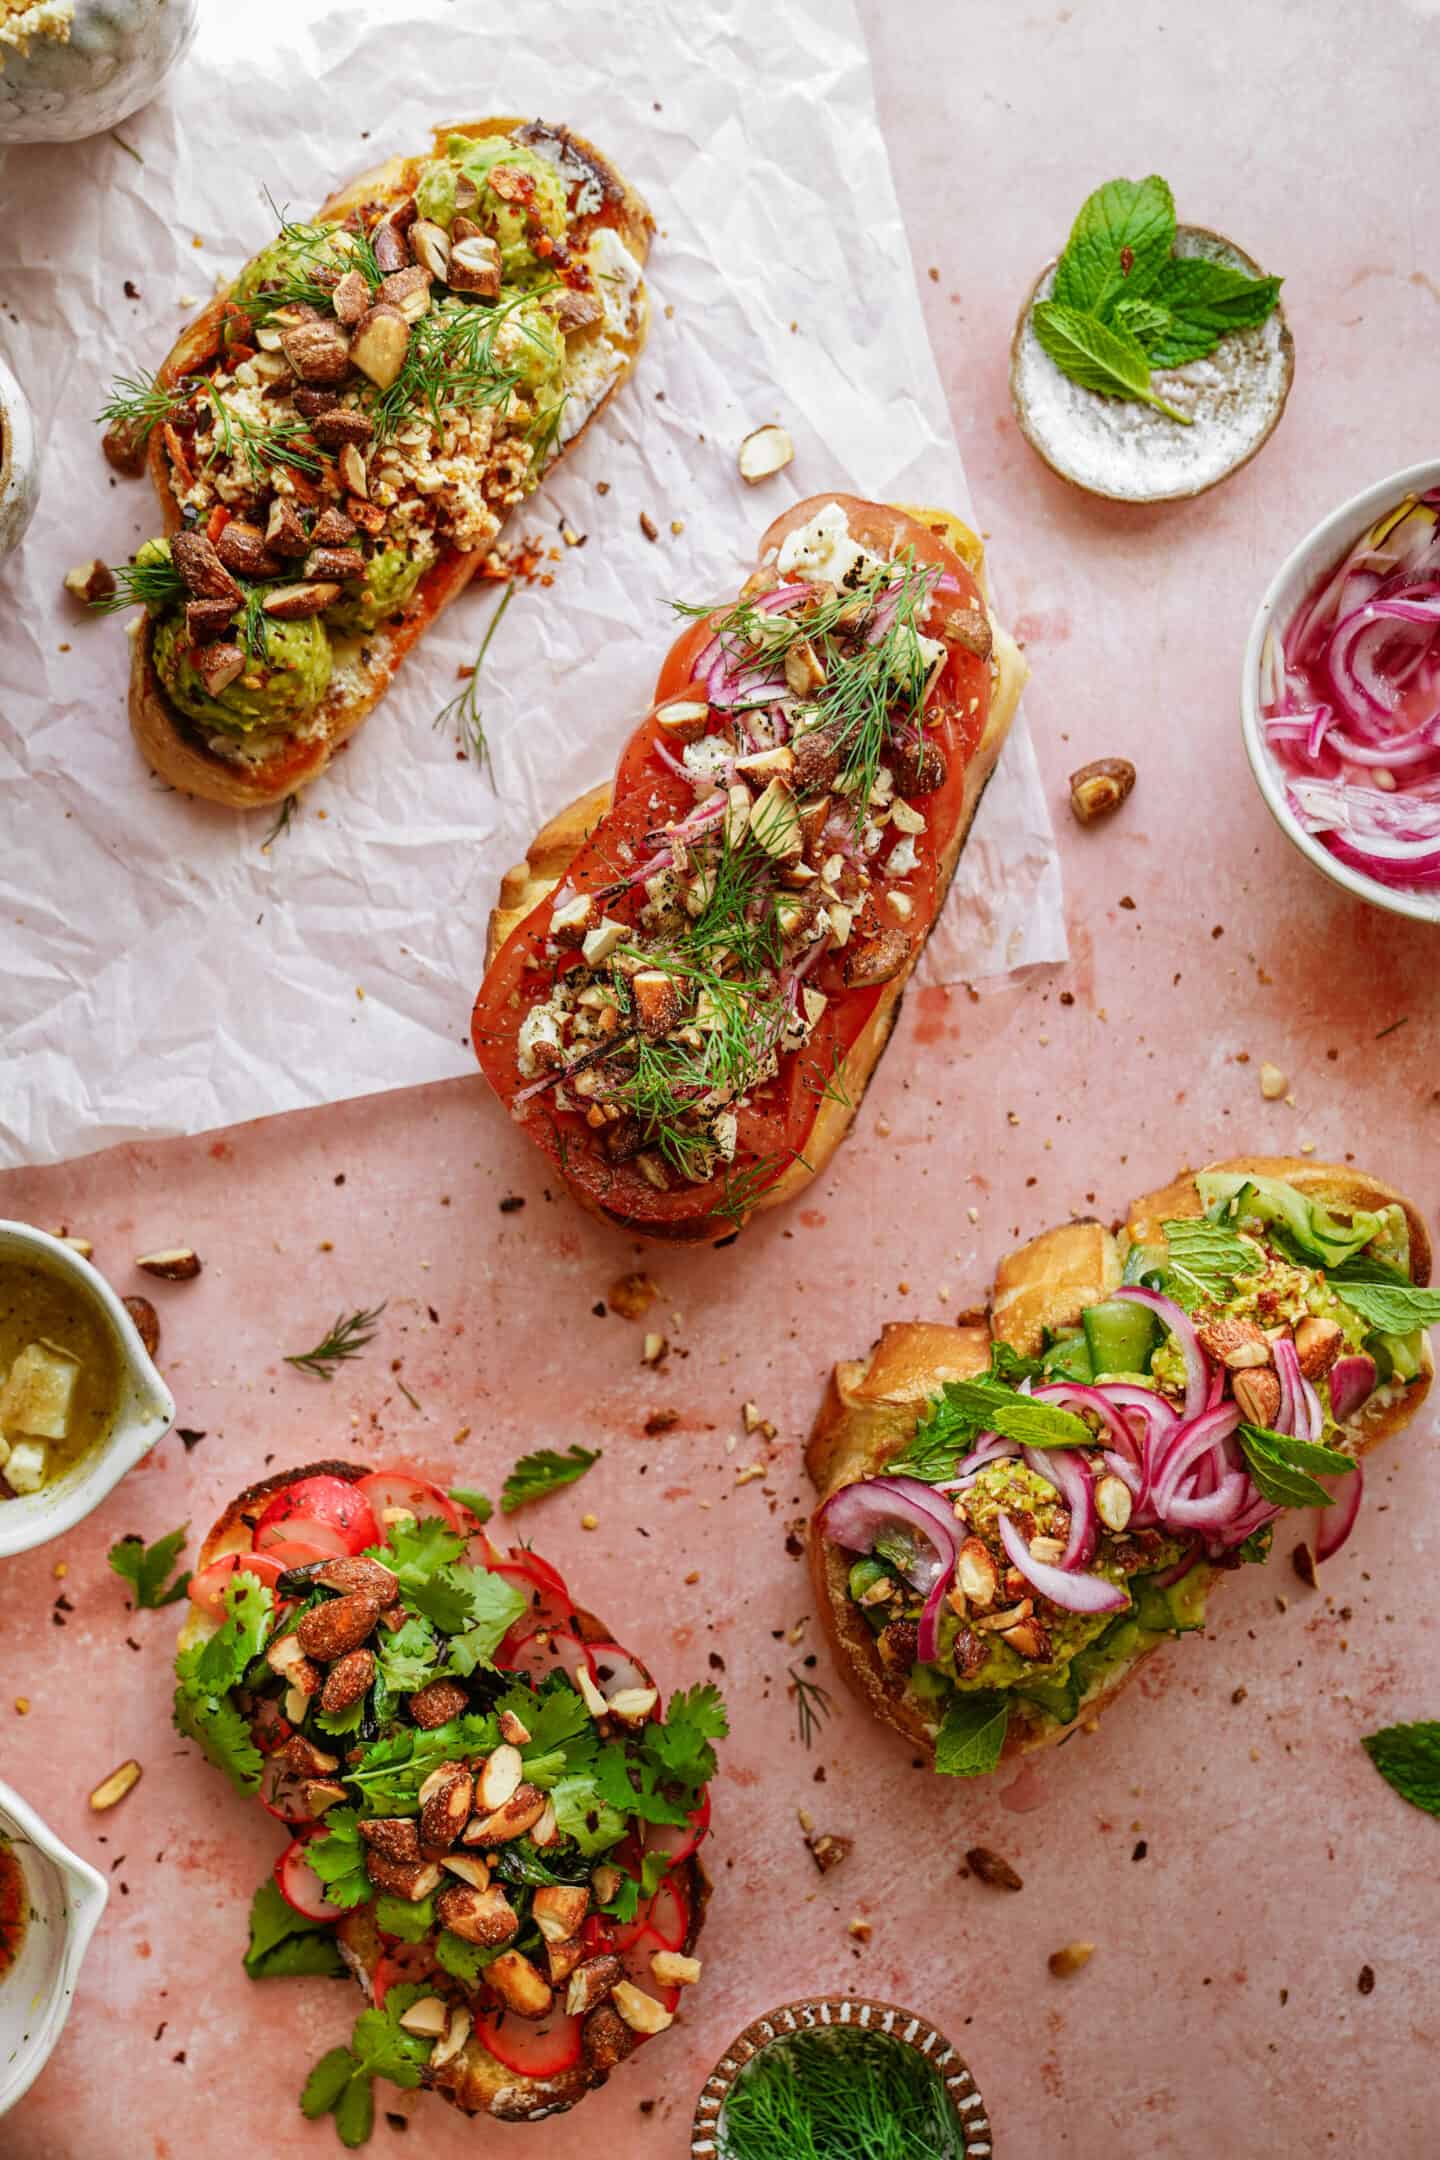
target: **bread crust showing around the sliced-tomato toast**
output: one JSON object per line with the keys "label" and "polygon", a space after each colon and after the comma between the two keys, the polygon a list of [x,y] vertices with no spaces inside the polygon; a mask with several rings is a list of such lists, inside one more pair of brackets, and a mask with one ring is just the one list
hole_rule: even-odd
{"label": "bread crust showing around the sliced-tomato toast", "polygon": [[[952,546],[963,559],[967,559],[972,570],[976,572],[976,579],[980,581],[980,590],[989,598],[989,588],[984,579],[984,557],[982,551],[978,549],[978,542],[969,534],[969,527],[965,527],[948,510],[922,510],[911,503],[896,503],[894,508],[902,510],[911,518],[920,518],[920,523],[928,525],[948,546]],[[1030,672],[1025,667],[1025,661],[1021,659],[1019,646],[1000,626],[993,613],[991,613],[991,635],[993,635],[993,659],[995,659],[995,687],[991,696],[989,715],[984,721],[984,734],[976,743],[976,752],[969,765],[965,767],[965,795],[961,814],[954,823],[954,834],[946,842],[946,851],[937,864],[939,875],[935,890],[935,914],[926,924],[926,937],[922,937],[915,944],[909,963],[902,968],[902,972],[894,976],[889,983],[885,983],[885,987],[881,989],[874,1011],[870,1013],[870,1020],[866,1022],[864,1030],[855,1037],[855,1043],[851,1045],[851,1052],[836,1076],[836,1084],[831,1084],[825,1091],[823,1099],[818,1102],[816,1117],[810,1128],[810,1138],[805,1140],[805,1160],[792,1162],[775,1179],[775,1184],[766,1186],[764,1192],[760,1192],[760,1197],[753,1201],[751,1207],[738,1212],[728,1223],[725,1236],[732,1236],[736,1229],[749,1223],[753,1214],[762,1214],[766,1207],[779,1207],[786,1201],[792,1201],[797,1192],[803,1192],[805,1186],[812,1184],[812,1179],[816,1179],[820,1171],[827,1166],[829,1158],[836,1153],[836,1149],[840,1147],[840,1143],[844,1140],[846,1132],[855,1121],[855,1112],[859,1110],[864,1093],[870,1084],[870,1076],[874,1074],[874,1067],[881,1061],[885,1043],[889,1041],[889,1032],[896,1020],[900,1017],[900,1000],[905,996],[905,987],[911,974],[915,972],[915,966],[920,963],[920,955],[924,953],[930,931],[939,922],[939,914],[946,905],[946,896],[950,892],[950,883],[954,879],[954,870],[961,860],[961,849],[965,847],[965,840],[969,836],[969,827],[974,823],[976,810],[980,808],[980,797],[984,795],[987,782],[995,771],[995,760],[1004,750],[1004,739],[1010,732],[1010,721],[1015,719],[1015,711],[1019,706],[1019,693]],[[555,886],[559,886],[570,864],[581,853],[581,849],[585,847],[592,832],[596,829],[596,825],[600,823],[600,819],[607,814],[609,808],[611,808],[611,786],[609,782],[602,782],[598,788],[589,788],[589,793],[576,797],[576,801],[559,810],[548,821],[548,825],[542,825],[542,829],[535,834],[535,838],[527,849],[525,862],[518,862],[514,864],[514,868],[505,870],[505,877],[501,879],[499,899],[490,912],[490,929],[486,935],[486,972],[494,966],[494,959],[505,940],[512,935],[512,931],[516,931],[520,922],[525,922],[525,918],[531,914],[531,909],[538,907],[555,890]],[[667,1244],[708,1244],[715,1240],[715,1223],[708,1216],[691,1223],[665,1223],[665,1225],[643,1223],[637,1220],[635,1216],[607,1207],[598,1197],[587,1192],[581,1184],[570,1179],[566,1182],[570,1184],[572,1194],[579,1199],[583,1207],[596,1214],[602,1223],[613,1223],[637,1238],[648,1238],[650,1242],[667,1242]]]}

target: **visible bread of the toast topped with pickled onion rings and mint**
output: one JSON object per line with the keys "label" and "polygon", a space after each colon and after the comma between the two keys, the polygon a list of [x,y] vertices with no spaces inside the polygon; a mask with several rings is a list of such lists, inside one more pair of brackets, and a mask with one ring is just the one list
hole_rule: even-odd
{"label": "visible bread of the toast topped with pickled onion rings and mint", "polygon": [[[1429,1233],[1414,1205],[1377,1177],[1349,1164],[1308,1162],[1289,1156],[1233,1156],[1207,1164],[1211,1171],[1237,1171],[1250,1177],[1280,1177],[1302,1192],[1334,1207],[1384,1207],[1397,1201],[1410,1223],[1410,1274],[1429,1283]],[[1073,1326],[1086,1305],[1108,1296],[1120,1281],[1129,1242],[1155,1244],[1166,1218],[1203,1214],[1194,1173],[1185,1171],[1161,1192],[1138,1199],[1118,1233],[1101,1223],[1062,1223],[1043,1231],[1015,1253],[1006,1253],[995,1270],[989,1315],[972,1315],[959,1326],[935,1322],[889,1322],[868,1359],[836,1365],[805,1447],[805,1467],[820,1495],[820,1506],[844,1484],[874,1477],[900,1454],[915,1432],[926,1402],[946,1380],[965,1380],[989,1367],[991,1341],[1006,1341],[1021,1356],[1034,1356],[1045,1328]],[[1382,1389],[1347,1426],[1349,1452],[1367,1454],[1380,1441],[1403,1430],[1418,1413],[1434,1380],[1434,1359],[1425,1344],[1423,1374],[1408,1387]],[[818,1516],[818,1510],[816,1510]],[[937,1719],[902,1678],[889,1672],[877,1650],[877,1639],[848,1596],[851,1557],[810,1529],[810,1566],[816,1601],[829,1629],[831,1646],[851,1687],[894,1726],[911,1747],[935,1758]],[[1213,1570],[1213,1583],[1226,1570]],[[1211,1588],[1213,1588],[1211,1583]],[[1151,1646],[1159,1648],[1159,1644]],[[1151,1650],[1140,1650],[1105,1687],[1082,1698],[1082,1717],[1099,1717],[1133,1678]],[[1054,1747],[1075,1732],[1075,1722],[1058,1726],[1015,1704],[1002,1760]]]}

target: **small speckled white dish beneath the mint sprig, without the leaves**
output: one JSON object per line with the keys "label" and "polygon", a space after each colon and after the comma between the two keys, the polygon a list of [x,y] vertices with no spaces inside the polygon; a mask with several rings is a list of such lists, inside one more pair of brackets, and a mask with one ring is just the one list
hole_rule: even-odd
{"label": "small speckled white dish beneath the mint sprig, without the leaves", "polygon": [[[1244,248],[1203,225],[1179,225],[1174,253],[1263,276]],[[1153,406],[1086,391],[1056,367],[1030,320],[1054,281],[1056,264],[1047,264],[1019,311],[1010,402],[1021,434],[1060,480],[1112,503],[1174,503],[1228,480],[1269,441],[1295,374],[1282,307],[1252,330],[1233,330],[1205,361],[1155,369],[1155,395],[1192,415],[1183,428]]]}

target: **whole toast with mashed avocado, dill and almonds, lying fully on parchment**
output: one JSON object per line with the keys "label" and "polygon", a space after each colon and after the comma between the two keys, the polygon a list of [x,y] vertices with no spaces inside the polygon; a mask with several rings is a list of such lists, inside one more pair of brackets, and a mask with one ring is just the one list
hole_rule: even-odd
{"label": "whole toast with mashed avocado, dill and almonds, lying fully on parchment", "polygon": [[[168,538],[130,719],[162,780],[233,808],[313,780],[492,562],[507,514],[630,374],[652,218],[581,136],[436,130],[279,238],[106,408]],[[112,603],[108,603],[112,605]]]}

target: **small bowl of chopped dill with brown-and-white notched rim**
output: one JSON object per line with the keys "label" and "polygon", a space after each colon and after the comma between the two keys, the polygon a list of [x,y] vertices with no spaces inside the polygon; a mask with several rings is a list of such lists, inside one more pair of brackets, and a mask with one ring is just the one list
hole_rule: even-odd
{"label": "small bowl of chopped dill with brown-and-white notched rim", "polygon": [[928,2017],[807,1996],[756,2017],[704,2082],[691,2160],[993,2160],[984,2100]]}

